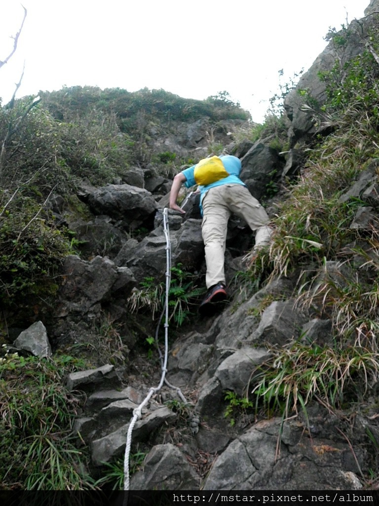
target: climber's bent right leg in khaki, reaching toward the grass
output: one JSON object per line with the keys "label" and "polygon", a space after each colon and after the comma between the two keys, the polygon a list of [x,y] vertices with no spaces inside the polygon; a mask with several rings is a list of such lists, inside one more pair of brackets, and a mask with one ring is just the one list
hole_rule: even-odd
{"label": "climber's bent right leg in khaki, reaching toward the grass", "polygon": [[251,230],[255,231],[255,248],[270,243],[272,230],[268,226],[269,218],[266,210],[246,186],[229,186],[226,204],[232,213],[244,218]]}

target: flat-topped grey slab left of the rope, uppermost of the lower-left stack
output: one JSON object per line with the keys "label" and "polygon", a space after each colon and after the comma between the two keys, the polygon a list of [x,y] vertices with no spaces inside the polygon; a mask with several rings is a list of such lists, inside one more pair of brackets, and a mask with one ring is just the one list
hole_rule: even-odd
{"label": "flat-topped grey slab left of the rope, uppermost of the lower-left stack", "polygon": [[73,390],[83,390],[91,393],[94,390],[109,390],[110,388],[120,388],[121,381],[117,376],[113,365],[103,365],[97,369],[86,371],[71,372],[66,380],[66,388]]}

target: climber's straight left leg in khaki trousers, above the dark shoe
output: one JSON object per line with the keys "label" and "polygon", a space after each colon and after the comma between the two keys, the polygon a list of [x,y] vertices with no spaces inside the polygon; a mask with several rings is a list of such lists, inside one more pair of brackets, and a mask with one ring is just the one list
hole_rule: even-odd
{"label": "climber's straight left leg in khaki trousers, above the dark shoe", "polygon": [[203,198],[202,235],[207,263],[207,288],[225,283],[224,254],[230,210],[225,205],[223,186],[211,188]]}

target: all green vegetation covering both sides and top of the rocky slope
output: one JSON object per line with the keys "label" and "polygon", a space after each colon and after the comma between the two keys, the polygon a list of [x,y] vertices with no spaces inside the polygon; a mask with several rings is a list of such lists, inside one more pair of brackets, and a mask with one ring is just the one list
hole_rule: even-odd
{"label": "all green vegetation covering both sides and top of the rocky slope", "polygon": [[[313,140],[301,175],[288,181],[276,199],[273,242],[244,276],[249,290],[280,276],[295,279],[298,305],[333,323],[331,346],[295,343],[271,350],[273,358],[263,365],[254,388],[255,402],[245,403],[265,416],[306,411],[312,399],[330,410],[348,410],[377,383],[379,235],[374,226],[351,227],[364,203],[341,199],[379,158],[376,35],[362,55],[320,76],[327,82],[327,102],[318,107],[310,100],[309,107],[331,133]],[[47,205],[52,193],[70,196],[83,179],[103,185],[122,177],[132,164],[146,162],[152,123],[169,125],[204,115],[217,121],[248,118],[225,94],[194,101],[163,90],[75,87],[41,93],[40,102],[31,108],[32,103],[29,97],[0,108],[0,342],[8,342],[6,320],[14,307],[24,308],[26,324],[54,304],[60,262],[74,250],[72,233],[56,222]],[[246,135],[283,145],[284,132],[279,114]],[[162,156],[162,166],[167,157]],[[171,161],[178,168],[185,160]],[[79,205],[70,198],[72,206]],[[343,266],[338,279],[330,263]],[[85,366],[65,355],[51,362],[18,356],[2,360],[0,488],[99,485],[87,473],[85,450],[77,450],[67,437],[77,399],[61,387],[67,371]]]}

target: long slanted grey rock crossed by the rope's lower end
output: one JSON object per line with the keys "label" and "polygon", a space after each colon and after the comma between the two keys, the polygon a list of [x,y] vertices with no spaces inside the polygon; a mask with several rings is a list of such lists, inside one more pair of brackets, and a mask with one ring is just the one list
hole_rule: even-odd
{"label": "long slanted grey rock crossed by the rope's lower end", "polygon": [[[146,441],[155,430],[163,424],[171,423],[175,418],[176,414],[167,407],[156,409],[146,418],[136,421],[132,432],[132,441]],[[130,420],[105,437],[92,441],[91,458],[94,465],[100,466],[102,462],[108,462],[124,453],[129,422]]]}

